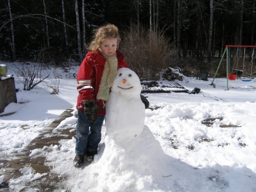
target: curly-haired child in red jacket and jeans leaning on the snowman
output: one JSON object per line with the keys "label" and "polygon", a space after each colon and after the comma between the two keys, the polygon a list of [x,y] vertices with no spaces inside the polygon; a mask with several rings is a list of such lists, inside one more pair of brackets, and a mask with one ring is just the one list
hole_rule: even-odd
{"label": "curly-haired child in red jacket and jeans leaning on the snowman", "polygon": [[80,167],[84,158],[88,162],[93,161],[94,155],[97,154],[105,115],[105,101],[109,98],[117,70],[127,68],[122,53],[117,50],[119,42],[120,36],[116,26],[109,24],[99,28],[89,45],[90,51],[78,70],[78,120],[76,156],[73,162],[75,167]]}

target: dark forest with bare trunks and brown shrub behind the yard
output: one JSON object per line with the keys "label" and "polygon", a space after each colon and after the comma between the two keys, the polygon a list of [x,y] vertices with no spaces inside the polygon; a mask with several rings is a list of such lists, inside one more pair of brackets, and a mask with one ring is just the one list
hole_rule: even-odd
{"label": "dark forest with bare trunks and brown shrub behind the yard", "polygon": [[[110,23],[120,30],[129,67],[154,79],[167,67],[214,73],[225,45],[255,45],[256,39],[254,0],[0,2],[0,60],[80,62],[94,30]],[[246,55],[250,63],[252,51],[241,50],[240,59]]]}

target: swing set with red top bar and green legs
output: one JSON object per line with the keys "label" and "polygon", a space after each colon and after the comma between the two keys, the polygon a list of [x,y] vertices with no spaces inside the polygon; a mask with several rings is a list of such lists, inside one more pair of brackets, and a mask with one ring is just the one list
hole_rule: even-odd
{"label": "swing set with red top bar and green legs", "polygon": [[[237,53],[236,53],[236,57],[234,59],[234,65],[233,65],[233,69],[234,66],[237,65],[237,70],[236,70],[236,74],[233,74],[232,72],[230,72],[230,48],[238,48],[237,49]],[[254,58],[254,48],[256,48],[256,46],[237,46],[237,45],[226,45],[224,53],[222,54],[221,57],[221,61],[219,63],[219,66],[217,68],[217,71],[215,73],[214,79],[212,79],[212,82],[210,83],[210,86],[214,86],[215,88],[215,84],[214,84],[214,80],[217,76],[217,73],[220,69],[221,63],[222,61],[226,61],[226,74],[227,74],[227,90],[228,89],[228,80],[236,80],[237,75],[238,75],[238,62],[239,62],[239,48],[244,48],[244,53],[243,53],[243,75],[242,75],[242,81],[251,81],[251,74],[252,74],[252,66],[253,66],[253,58]],[[244,64],[245,64],[245,50],[246,48],[253,48],[252,49],[252,55],[251,55],[251,72],[250,72],[250,78],[244,78]],[[226,59],[224,59],[224,56],[226,55]],[[232,70],[233,71],[233,70]]]}

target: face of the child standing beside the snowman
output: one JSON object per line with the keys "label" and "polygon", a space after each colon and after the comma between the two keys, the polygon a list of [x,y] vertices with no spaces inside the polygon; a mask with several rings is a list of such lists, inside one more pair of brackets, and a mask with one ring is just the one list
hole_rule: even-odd
{"label": "face of the child standing beside the snowman", "polygon": [[106,38],[101,42],[100,51],[104,56],[112,56],[117,49],[117,38]]}

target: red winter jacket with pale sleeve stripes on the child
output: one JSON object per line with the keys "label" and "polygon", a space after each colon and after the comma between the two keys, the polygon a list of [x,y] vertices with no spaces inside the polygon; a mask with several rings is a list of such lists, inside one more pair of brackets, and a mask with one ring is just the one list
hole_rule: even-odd
{"label": "red winter jacket with pale sleeve stripes on the child", "polygon": [[[127,63],[121,52],[116,51],[119,68],[127,68]],[[79,92],[77,97],[76,109],[83,111],[83,101],[89,99],[95,99],[99,91],[99,84],[101,76],[104,70],[106,59],[98,51],[93,53],[89,51],[86,57],[83,59],[80,68],[77,73],[77,91]],[[103,101],[97,100],[97,104],[104,108]],[[105,109],[103,111],[97,111],[97,114],[105,115]]]}

